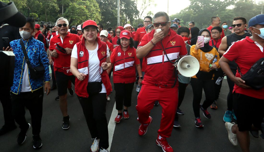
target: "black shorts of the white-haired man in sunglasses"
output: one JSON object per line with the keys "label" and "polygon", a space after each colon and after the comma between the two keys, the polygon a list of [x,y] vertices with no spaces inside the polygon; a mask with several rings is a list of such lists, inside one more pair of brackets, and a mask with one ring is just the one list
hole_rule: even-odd
{"label": "black shorts of the white-haired man in sunglasses", "polygon": [[66,75],[63,72],[55,71],[55,79],[57,82],[59,96],[63,96],[64,94],[67,94],[67,87],[69,80],[73,83],[73,85],[75,83],[74,75]]}

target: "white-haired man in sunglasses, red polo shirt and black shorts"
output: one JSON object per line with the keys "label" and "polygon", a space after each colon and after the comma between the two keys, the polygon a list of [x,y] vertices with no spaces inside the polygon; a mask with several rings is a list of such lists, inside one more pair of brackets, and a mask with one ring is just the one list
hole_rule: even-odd
{"label": "white-haired man in sunglasses, red polo shirt and black shorts", "polygon": [[70,71],[70,56],[73,46],[81,41],[78,35],[70,34],[69,22],[61,17],[56,21],[58,35],[50,40],[50,54],[54,58],[54,72],[58,87],[60,110],[63,115],[62,129],[69,129],[70,117],[67,113],[67,86],[70,80],[73,84],[75,77]]}

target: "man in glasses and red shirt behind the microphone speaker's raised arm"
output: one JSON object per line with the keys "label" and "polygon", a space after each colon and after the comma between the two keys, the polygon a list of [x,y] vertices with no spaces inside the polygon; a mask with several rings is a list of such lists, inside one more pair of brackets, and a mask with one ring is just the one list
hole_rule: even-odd
{"label": "man in glasses and red shirt behind the microphone speaker's raised arm", "polygon": [[138,28],[138,30],[136,31],[135,35],[134,35],[134,48],[136,49],[138,47],[138,44],[141,42],[142,37],[147,34],[146,32],[146,27],[152,24],[152,17],[150,16],[146,16],[144,18],[144,27],[142,28]]}

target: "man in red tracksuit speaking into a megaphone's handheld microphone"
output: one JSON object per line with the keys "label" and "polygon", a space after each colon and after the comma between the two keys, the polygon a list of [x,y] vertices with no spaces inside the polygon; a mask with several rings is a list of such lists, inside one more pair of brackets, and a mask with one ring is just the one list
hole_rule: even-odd
{"label": "man in red tracksuit speaking into a megaphone's handheld microphone", "polygon": [[[138,134],[143,136],[147,132],[148,125],[152,122],[150,110],[158,100],[162,107],[162,118],[156,144],[163,151],[171,152],[173,149],[166,138],[171,136],[178,104],[178,81],[173,62],[179,56],[186,56],[187,50],[182,37],[169,28],[171,22],[167,13],[158,12],[153,19],[155,30],[144,35],[136,50],[138,58],[145,57],[147,60],[136,106],[138,121],[141,123]],[[157,32],[157,29],[161,31]]]}

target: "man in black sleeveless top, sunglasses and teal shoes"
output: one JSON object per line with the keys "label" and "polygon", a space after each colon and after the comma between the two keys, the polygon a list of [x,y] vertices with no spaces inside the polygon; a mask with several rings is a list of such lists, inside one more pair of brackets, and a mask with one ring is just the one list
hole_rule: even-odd
{"label": "man in black sleeveless top, sunglasses and teal shoes", "polygon": [[[229,46],[232,45],[233,42],[239,41],[241,39],[244,39],[246,36],[252,36],[248,32],[245,32],[245,28],[247,27],[247,20],[243,17],[235,17],[233,19],[233,27],[234,33],[225,36],[218,49],[218,53],[220,56],[222,56],[225,51],[229,48]],[[234,61],[229,62],[229,67],[233,74],[235,75],[237,70],[237,64]],[[225,122],[231,122],[231,117],[233,115],[234,119],[236,120],[236,117],[234,115],[233,111],[233,88],[234,88],[234,82],[230,80],[229,77],[227,77],[227,83],[229,86],[229,93],[227,96],[227,111],[225,112],[223,120]]]}

